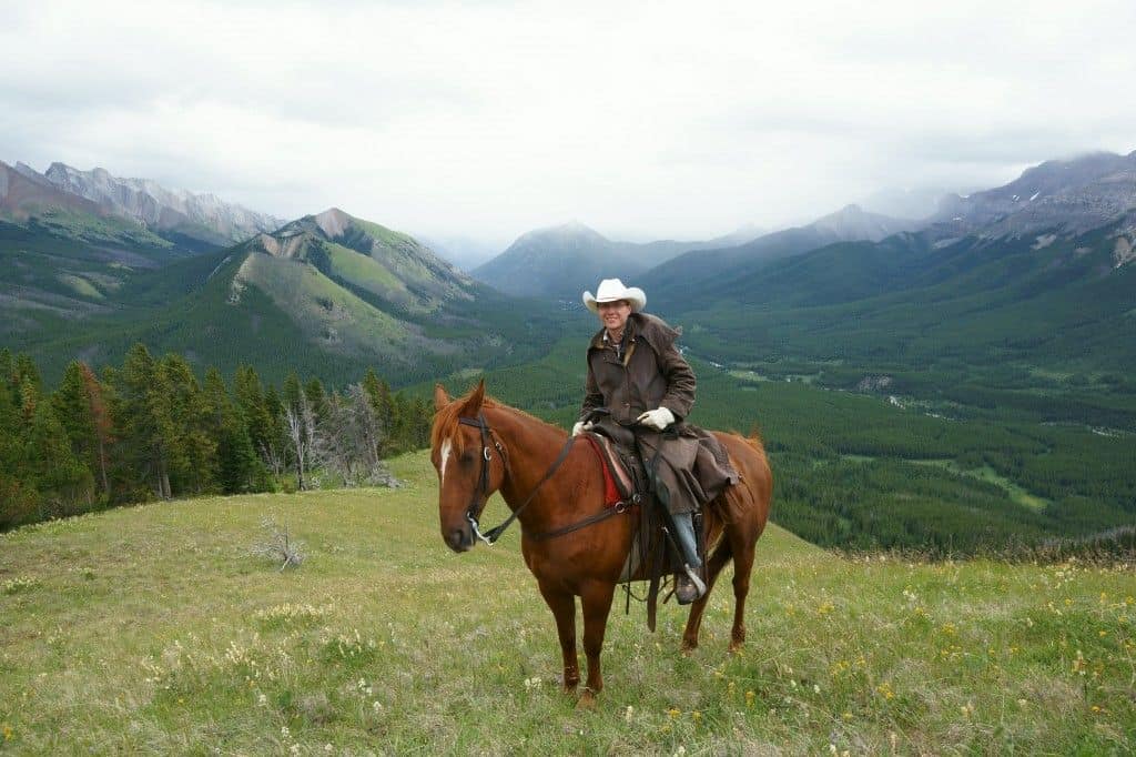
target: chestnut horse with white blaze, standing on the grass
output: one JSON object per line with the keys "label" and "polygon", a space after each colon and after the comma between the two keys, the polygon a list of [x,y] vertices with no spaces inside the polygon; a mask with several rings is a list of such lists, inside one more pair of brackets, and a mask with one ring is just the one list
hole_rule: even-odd
{"label": "chestnut horse with white blaze, standing on the grass", "polygon": [[[605,510],[603,471],[591,446],[568,444],[563,430],[485,397],[484,382],[457,400],[438,384],[434,404],[437,413],[431,432],[431,460],[438,476],[442,538],[456,552],[471,549],[475,536],[484,539],[477,518],[486,499],[501,491],[520,523],[525,564],[556,616],[566,692],[575,691],[579,683],[575,598],[580,598],[587,656],[587,684],[580,704],[592,704],[603,688],[600,651],[637,519],[635,508],[618,514]],[[769,515],[772,475],[760,441],[716,435],[741,482],[703,508],[707,543],[718,544],[707,560],[707,585],[713,588],[718,573],[733,558],[735,607],[729,649],[735,651],[745,640],[745,597],[753,550]],[[691,605],[684,650],[699,643],[709,593]]]}

